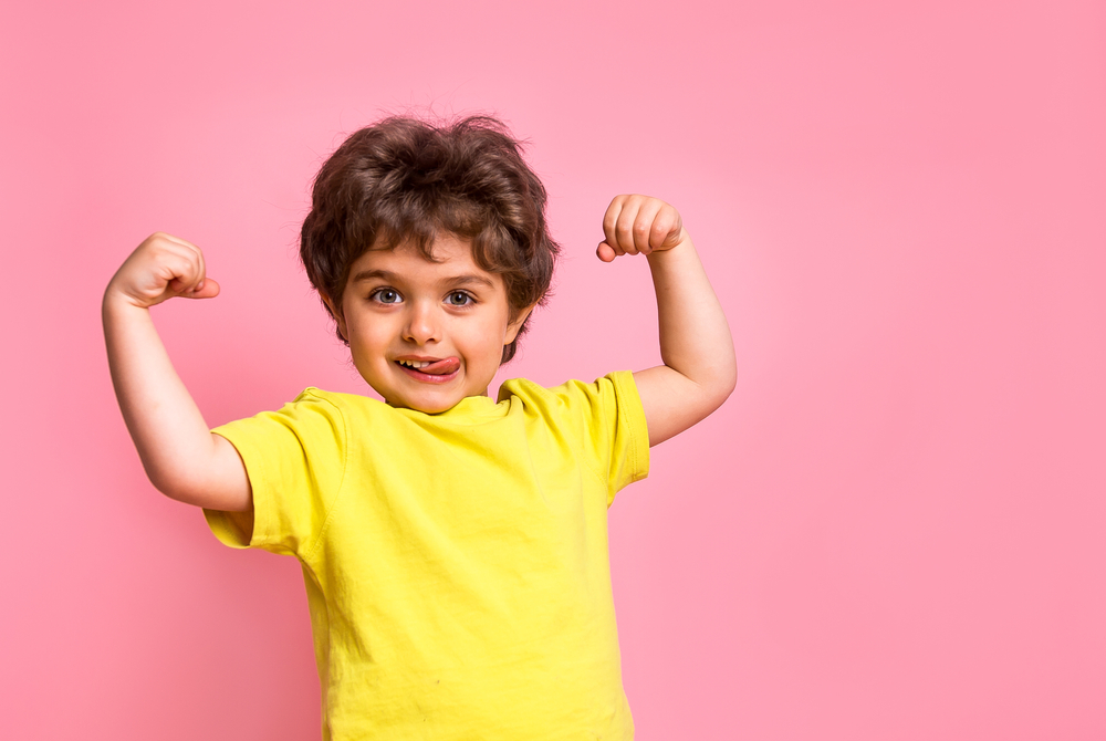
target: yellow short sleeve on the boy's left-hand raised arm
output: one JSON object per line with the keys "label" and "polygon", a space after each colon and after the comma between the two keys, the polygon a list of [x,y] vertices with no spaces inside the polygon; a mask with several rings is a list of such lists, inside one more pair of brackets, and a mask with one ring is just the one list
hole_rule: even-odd
{"label": "yellow short sleeve on the boy's left-hand raised arm", "polygon": [[239,518],[205,510],[208,525],[231,547],[305,555],[317,541],[345,476],[345,418],[334,401],[309,388],[278,411],[212,431],[238,450],[253,489],[253,531]]}

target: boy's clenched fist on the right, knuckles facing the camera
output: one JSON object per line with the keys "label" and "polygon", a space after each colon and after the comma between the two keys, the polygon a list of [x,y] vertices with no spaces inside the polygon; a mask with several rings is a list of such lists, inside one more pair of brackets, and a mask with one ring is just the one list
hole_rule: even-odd
{"label": "boy's clenched fist on the right, knuckles facing the camera", "polygon": [[616,196],[603,217],[604,240],[595,254],[611,262],[619,254],[670,250],[687,237],[675,208],[649,196]]}

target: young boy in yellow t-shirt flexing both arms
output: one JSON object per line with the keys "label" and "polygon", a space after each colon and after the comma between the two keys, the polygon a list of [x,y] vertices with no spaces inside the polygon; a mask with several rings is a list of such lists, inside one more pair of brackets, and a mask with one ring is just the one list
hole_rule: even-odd
{"label": "young boy in yellow t-shirt flexing both arms", "polygon": [[112,378],[150,481],[236,547],[303,567],[324,739],[630,739],[606,510],[648,447],[735,379],[721,307],[671,206],[618,196],[597,255],[646,254],[664,365],[488,397],[557,246],[498,122],[389,118],[316,178],[301,257],[374,399],[309,388],[209,431],[148,309],[207,299],[156,233],[104,295]]}

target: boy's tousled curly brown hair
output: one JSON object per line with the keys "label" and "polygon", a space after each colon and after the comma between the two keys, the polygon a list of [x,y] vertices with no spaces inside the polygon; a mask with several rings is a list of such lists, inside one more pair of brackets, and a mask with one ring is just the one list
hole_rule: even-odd
{"label": "boy's tousled curly brown hair", "polygon": [[[517,316],[544,303],[553,280],[560,247],[545,221],[546,198],[498,119],[435,125],[393,116],[351,135],[319,170],[300,259],[321,298],[341,311],[351,265],[367,250],[405,243],[432,261],[435,238],[452,233],[471,244],[478,265],[502,275]],[[529,322],[503,347],[503,363]]]}

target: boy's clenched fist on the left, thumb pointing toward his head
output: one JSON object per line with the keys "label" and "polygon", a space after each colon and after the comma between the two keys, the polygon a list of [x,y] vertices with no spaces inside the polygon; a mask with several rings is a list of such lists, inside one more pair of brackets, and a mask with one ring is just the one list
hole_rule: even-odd
{"label": "boy's clenched fist on the left, thumb pointing toward his head", "polygon": [[148,307],[175,296],[210,299],[219,294],[219,284],[207,278],[200,248],[159,231],[131,253],[107,292]]}

